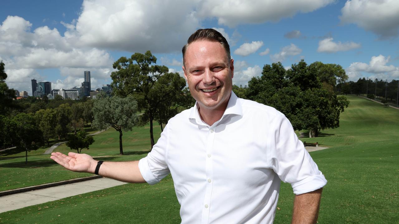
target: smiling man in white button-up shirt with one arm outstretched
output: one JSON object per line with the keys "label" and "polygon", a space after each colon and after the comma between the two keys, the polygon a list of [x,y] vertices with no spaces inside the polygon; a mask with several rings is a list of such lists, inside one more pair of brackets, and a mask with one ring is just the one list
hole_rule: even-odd
{"label": "smiling man in white button-up shirt with one arm outstretched", "polygon": [[170,119],[147,157],[102,165],[77,153],[51,159],[131,183],[155,184],[171,173],[182,223],[190,224],[273,223],[282,180],[296,194],[292,223],[316,223],[327,181],[283,114],[231,91],[234,60],[226,39],[199,29],[182,52],[197,102]]}

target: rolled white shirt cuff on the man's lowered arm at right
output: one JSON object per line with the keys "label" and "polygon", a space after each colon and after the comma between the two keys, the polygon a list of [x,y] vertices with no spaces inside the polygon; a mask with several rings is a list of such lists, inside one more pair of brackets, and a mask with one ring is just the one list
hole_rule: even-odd
{"label": "rolled white shirt cuff on the man's lowered arm at right", "polygon": [[317,189],[324,187],[326,184],[326,178],[324,175],[320,174],[317,176],[307,177],[296,183],[292,183],[292,190],[294,191],[295,195],[300,195],[311,191],[316,191]]}

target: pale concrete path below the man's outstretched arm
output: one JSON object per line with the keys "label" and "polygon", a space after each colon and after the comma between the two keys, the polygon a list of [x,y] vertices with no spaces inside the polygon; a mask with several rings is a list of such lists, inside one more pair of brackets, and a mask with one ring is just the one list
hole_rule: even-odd
{"label": "pale concrete path below the man's outstretched arm", "polygon": [[126,184],[109,178],[49,187],[0,197],[0,213]]}

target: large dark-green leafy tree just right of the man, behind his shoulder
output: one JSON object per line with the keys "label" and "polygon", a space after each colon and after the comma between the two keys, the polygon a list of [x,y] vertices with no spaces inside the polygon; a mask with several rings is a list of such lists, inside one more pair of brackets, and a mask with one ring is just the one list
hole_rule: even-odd
{"label": "large dark-green leafy tree just right of the man, behind his shoulder", "polygon": [[302,60],[288,71],[281,63],[265,65],[261,77],[248,83],[247,96],[282,112],[295,130],[309,130],[309,137],[320,129],[339,126],[340,112],[348,106],[344,96],[322,88],[314,66]]}

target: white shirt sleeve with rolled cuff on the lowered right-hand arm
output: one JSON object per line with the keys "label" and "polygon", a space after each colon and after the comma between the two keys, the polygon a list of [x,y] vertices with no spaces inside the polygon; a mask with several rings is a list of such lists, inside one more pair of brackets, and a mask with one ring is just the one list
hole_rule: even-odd
{"label": "white shirt sleeve with rolled cuff on the lowered right-hand arm", "polygon": [[327,180],[296,136],[289,120],[275,119],[271,139],[271,164],[280,179],[290,183],[294,194],[315,191],[326,185]]}

